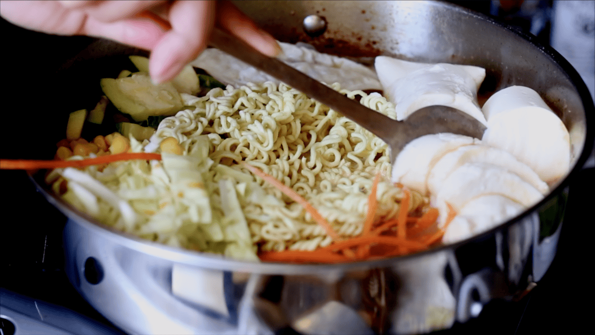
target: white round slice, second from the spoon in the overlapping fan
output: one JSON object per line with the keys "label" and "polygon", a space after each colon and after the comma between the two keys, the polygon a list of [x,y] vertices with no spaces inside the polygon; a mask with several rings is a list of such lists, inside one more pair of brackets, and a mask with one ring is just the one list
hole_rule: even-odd
{"label": "white round slice, second from the spoon in the overlapping fan", "polygon": [[444,154],[430,170],[427,179],[427,190],[430,194],[437,194],[444,180],[459,166],[465,163],[488,163],[500,166],[509,172],[515,173],[524,181],[535,187],[541,194],[546,194],[549,187],[525,163],[519,162],[512,154],[500,148],[487,145],[474,144],[459,147]]}

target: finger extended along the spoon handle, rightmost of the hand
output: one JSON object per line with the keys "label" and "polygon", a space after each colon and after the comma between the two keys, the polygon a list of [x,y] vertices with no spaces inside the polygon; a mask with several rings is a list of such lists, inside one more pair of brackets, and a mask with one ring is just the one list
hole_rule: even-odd
{"label": "finger extended along the spoon handle, rightmost of the hand", "polygon": [[277,41],[229,1],[218,2],[217,25],[270,57],[281,53]]}

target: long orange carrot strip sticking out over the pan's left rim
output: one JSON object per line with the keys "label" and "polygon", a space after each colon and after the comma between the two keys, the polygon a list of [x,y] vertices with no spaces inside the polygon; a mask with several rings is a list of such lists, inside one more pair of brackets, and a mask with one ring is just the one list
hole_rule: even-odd
{"label": "long orange carrot strip sticking out over the pan's left rim", "polygon": [[30,159],[2,159],[0,169],[7,170],[36,170],[57,168],[84,168],[90,165],[99,165],[120,160],[161,160],[160,154],[153,153],[122,153],[83,160],[30,160]]}

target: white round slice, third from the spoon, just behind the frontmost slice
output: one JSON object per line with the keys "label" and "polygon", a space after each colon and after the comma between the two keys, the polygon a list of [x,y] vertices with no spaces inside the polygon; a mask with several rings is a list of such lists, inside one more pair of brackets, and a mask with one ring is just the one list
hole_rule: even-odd
{"label": "white round slice, third from the spoon, just behind the frontmost slice", "polygon": [[535,187],[502,166],[487,163],[465,163],[444,179],[433,201],[440,211],[440,225],[448,212],[446,202],[457,213],[472,199],[488,194],[500,194],[529,207],[543,195]]}

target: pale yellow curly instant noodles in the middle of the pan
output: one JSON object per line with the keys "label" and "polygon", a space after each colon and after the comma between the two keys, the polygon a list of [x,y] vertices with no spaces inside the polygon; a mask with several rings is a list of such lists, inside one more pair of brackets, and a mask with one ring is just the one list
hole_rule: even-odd
{"label": "pale yellow curly instant noodles in the middle of the pan", "polygon": [[[380,94],[347,91],[338,83],[331,87],[395,117],[394,105]],[[174,137],[186,143],[187,151],[193,138],[206,134],[213,166],[220,163],[237,170],[242,169],[241,162],[256,166],[306,198],[341,237],[362,233],[374,175],[390,175],[390,157],[383,141],[283,83],[212,89],[205,97],[186,103],[195,108],[164,119],[152,141]],[[221,175],[211,167],[209,178],[217,184]],[[378,183],[377,218],[396,216],[403,197],[403,190],[387,179]],[[284,206],[267,201],[242,204],[253,242],[261,250],[314,250],[331,243],[299,204],[259,182],[268,196],[284,199]],[[219,192],[218,188],[209,191]],[[412,212],[427,200],[412,191],[409,203]]]}

